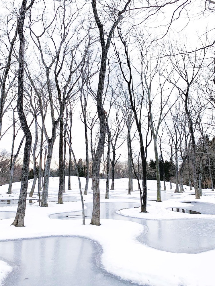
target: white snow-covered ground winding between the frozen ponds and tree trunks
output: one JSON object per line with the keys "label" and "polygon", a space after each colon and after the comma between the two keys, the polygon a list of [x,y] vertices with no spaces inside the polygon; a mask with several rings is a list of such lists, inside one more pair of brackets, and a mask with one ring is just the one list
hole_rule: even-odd
{"label": "white snow-covered ground winding between the frozen ponds and tree trunks", "polygon": [[[59,178],[50,178],[49,198],[56,197],[58,193]],[[81,178],[82,188],[84,188],[85,179]],[[29,181],[29,191],[32,180]],[[167,191],[161,192],[166,198],[163,202],[151,201],[156,199],[156,182],[148,181],[148,213],[140,213],[139,208],[125,209],[118,211],[124,216],[138,217],[150,220],[172,220],[172,219],[196,219],[204,218],[207,224],[208,220],[214,219],[215,215],[210,214],[186,214],[173,212],[167,208],[192,208],[195,210],[195,204],[183,203],[182,201],[195,201],[195,196],[191,195],[193,191],[185,186],[185,192],[182,194],[174,194],[170,190],[169,183],[166,183]],[[84,196],[85,203],[92,202],[92,192],[90,190],[91,181],[87,196]],[[19,196],[20,182],[13,183],[12,194],[7,195],[7,185],[0,187],[0,199],[16,199]],[[116,179],[115,190],[110,192],[110,202],[134,202],[139,199],[137,190],[137,182],[134,180],[134,192],[127,195],[128,179]],[[67,196],[79,198],[78,180],[72,177],[72,191],[66,191]],[[101,202],[104,200],[105,180],[100,181]],[[162,189],[162,186],[161,186]],[[11,226],[13,218],[0,220],[0,240],[26,239],[48,236],[83,236],[99,243],[103,249],[101,262],[107,271],[117,275],[123,279],[128,279],[140,285],[154,286],[212,286],[214,285],[214,265],[213,260],[215,250],[205,251],[196,254],[189,253],[170,253],[153,249],[137,240],[137,237],[147,231],[145,227],[139,223],[123,220],[101,219],[101,226],[90,225],[90,219],[86,219],[86,225],[82,225],[82,220],[60,220],[51,219],[49,216],[54,213],[71,212],[81,210],[81,202],[48,202],[48,208],[40,208],[38,206],[38,196],[35,191],[32,198],[33,204],[26,206],[25,227],[16,228]],[[201,202],[211,203],[215,205],[215,194],[211,190],[203,190],[205,196],[201,197]],[[133,198],[133,199],[131,199]],[[31,198],[30,198],[31,200]],[[102,207],[102,205],[101,205]],[[0,212],[16,211],[17,206],[0,206]],[[15,213],[14,213],[15,214]],[[15,215],[14,215],[15,216]],[[212,235],[215,236],[215,233]],[[192,233],[190,233],[192,236]],[[164,238],[165,239],[165,238]],[[189,252],[189,251],[188,251]],[[199,251],[198,251],[199,252]],[[1,253],[0,253],[1,257]],[[0,261],[0,283],[5,275],[12,271],[12,267],[5,261]]]}

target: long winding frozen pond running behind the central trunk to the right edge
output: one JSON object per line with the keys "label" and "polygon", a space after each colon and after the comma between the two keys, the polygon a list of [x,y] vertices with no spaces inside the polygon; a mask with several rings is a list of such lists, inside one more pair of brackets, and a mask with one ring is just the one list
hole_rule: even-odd
{"label": "long winding frozen pond running behind the central trunk to the right edge", "polygon": [[[146,231],[138,240],[156,249],[174,253],[200,253],[215,248],[215,219],[147,220],[125,217],[116,213],[116,210],[139,205],[135,202],[103,202],[101,219],[128,220],[144,225]],[[86,219],[90,219],[93,204],[87,203],[86,206]],[[81,212],[60,213],[50,217],[52,219],[82,218]]]}

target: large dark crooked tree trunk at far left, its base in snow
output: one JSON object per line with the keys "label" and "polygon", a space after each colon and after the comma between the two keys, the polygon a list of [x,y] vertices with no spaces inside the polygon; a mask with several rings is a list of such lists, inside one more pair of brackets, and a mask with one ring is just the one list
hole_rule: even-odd
{"label": "large dark crooked tree trunk at far left, its base in snow", "polygon": [[[31,5],[33,5],[32,1]],[[28,191],[28,174],[29,174],[29,162],[30,162],[30,152],[31,152],[31,142],[32,136],[28,123],[23,112],[23,78],[24,78],[24,51],[25,51],[25,39],[23,33],[25,13],[26,13],[27,0],[22,1],[21,8],[19,10],[20,15],[17,21],[17,29],[19,34],[19,69],[18,69],[18,96],[17,96],[17,112],[19,115],[19,120],[21,128],[25,134],[26,142],[23,155],[23,167],[21,172],[21,188],[19,194],[19,201],[17,206],[17,212],[15,219],[12,223],[15,227],[24,227],[24,218],[26,212],[26,198]]]}

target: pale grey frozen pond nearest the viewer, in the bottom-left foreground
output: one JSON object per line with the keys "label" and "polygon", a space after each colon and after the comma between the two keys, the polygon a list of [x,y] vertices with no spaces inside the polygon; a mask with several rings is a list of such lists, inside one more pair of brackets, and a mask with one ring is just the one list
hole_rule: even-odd
{"label": "pale grey frozen pond nearest the viewer, in the bottom-left foreground", "polygon": [[101,249],[83,237],[3,241],[1,259],[12,267],[4,286],[132,286],[101,268]]}

